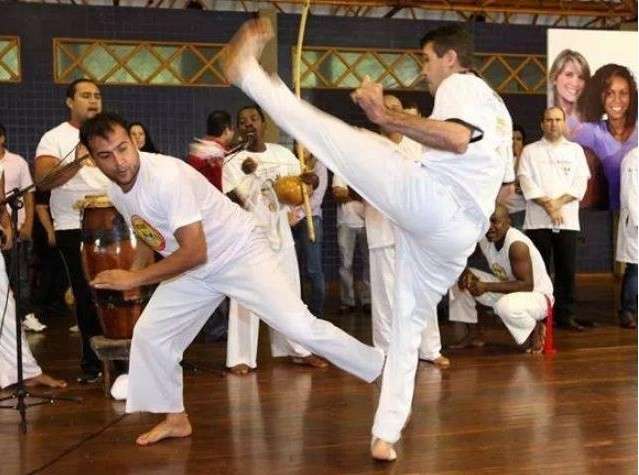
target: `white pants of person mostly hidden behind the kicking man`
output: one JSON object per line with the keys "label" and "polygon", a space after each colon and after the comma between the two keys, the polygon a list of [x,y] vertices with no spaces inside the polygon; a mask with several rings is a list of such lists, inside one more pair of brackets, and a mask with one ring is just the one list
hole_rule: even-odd
{"label": "white pants of person mostly hidden behind the kicking man", "polygon": [[[395,246],[370,249],[371,313],[373,345],[388,353],[393,323],[393,294],[395,292]],[[437,315],[435,315],[436,317]],[[437,319],[429,322],[422,332],[419,358],[433,361],[441,356],[442,343]]]}

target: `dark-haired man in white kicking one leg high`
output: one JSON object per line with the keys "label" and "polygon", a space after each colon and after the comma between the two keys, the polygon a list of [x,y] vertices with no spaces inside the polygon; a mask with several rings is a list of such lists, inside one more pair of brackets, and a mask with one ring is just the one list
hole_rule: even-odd
{"label": "dark-haired man in white kicking one leg high", "polygon": [[437,303],[488,228],[511,160],[512,121],[470,71],[468,33],[438,28],[422,39],[423,74],[435,94],[429,118],[387,109],[381,85],[370,80],[353,93],[372,122],[425,145],[421,156],[402,160],[386,138],[317,110],[269,77],[258,57],[272,36],[268,20],[247,22],[228,46],[227,79],[397,226],[395,313],[371,441],[374,458],[394,460],[411,410],[421,332],[437,324]]}

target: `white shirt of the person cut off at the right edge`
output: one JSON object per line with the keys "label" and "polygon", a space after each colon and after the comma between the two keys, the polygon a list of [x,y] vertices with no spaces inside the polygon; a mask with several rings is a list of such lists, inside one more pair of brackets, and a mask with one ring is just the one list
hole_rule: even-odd
{"label": "white shirt of the person cut off at the right edge", "polygon": [[617,254],[619,262],[637,263],[637,226],[639,216],[639,169],[637,158],[639,152],[633,148],[621,161],[621,188],[619,227],[617,232]]}

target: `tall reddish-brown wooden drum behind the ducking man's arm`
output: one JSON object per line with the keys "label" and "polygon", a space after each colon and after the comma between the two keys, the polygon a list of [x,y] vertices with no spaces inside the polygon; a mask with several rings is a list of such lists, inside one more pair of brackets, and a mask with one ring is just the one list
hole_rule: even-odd
{"label": "tall reddish-brown wooden drum behind the ducking man's arm", "polygon": [[[106,196],[87,196],[77,203],[82,210],[82,267],[90,282],[100,272],[130,269],[138,241],[124,218]],[[106,338],[129,339],[133,327],[150,297],[149,288],[124,292],[91,288],[98,317]]]}

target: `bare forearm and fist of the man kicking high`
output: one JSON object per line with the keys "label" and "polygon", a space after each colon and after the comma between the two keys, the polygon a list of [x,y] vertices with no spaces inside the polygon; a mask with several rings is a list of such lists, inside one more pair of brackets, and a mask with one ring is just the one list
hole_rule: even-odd
{"label": "bare forearm and fist of the man kicking high", "polygon": [[472,137],[471,130],[459,123],[448,122],[389,110],[384,106],[381,84],[364,79],[352,94],[369,120],[389,132],[398,132],[423,145],[453,153],[464,153]]}

